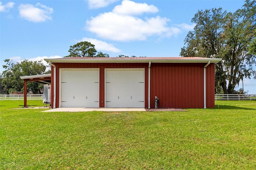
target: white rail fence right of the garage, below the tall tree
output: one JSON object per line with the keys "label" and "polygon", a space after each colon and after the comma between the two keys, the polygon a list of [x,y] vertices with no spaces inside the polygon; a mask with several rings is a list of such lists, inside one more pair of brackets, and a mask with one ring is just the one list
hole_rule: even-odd
{"label": "white rail fence right of the garage, below the tall tree", "polygon": [[255,95],[215,94],[215,100],[256,100]]}

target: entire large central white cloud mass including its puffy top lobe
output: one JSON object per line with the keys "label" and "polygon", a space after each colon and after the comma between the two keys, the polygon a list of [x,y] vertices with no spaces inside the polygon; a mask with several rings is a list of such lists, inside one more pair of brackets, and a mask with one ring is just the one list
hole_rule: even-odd
{"label": "entire large central white cloud mass including its puffy top lobe", "polygon": [[158,8],[146,3],[123,0],[112,12],[101,13],[86,21],[85,29],[98,37],[115,41],[146,40],[150,36],[177,36],[182,29],[169,27],[170,19],[160,16],[140,18],[136,15],[156,13]]}

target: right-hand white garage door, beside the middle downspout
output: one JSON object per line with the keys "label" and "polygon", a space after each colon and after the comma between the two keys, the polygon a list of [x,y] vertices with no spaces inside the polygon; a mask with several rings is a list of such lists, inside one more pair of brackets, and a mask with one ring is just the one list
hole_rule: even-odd
{"label": "right-hand white garage door, beside the middle downspout", "polygon": [[144,107],[144,69],[106,69],[106,107]]}

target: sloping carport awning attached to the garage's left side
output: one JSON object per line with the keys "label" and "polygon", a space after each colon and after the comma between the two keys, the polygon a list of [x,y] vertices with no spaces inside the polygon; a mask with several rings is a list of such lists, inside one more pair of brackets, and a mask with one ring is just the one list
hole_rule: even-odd
{"label": "sloping carport awning attached to the garage's left side", "polygon": [[20,79],[41,84],[51,84],[51,74],[21,76]]}

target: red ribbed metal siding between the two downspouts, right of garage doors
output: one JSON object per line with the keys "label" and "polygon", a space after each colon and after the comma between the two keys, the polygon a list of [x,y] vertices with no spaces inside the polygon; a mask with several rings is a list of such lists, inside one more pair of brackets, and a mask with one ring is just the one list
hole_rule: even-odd
{"label": "red ribbed metal siding between the two downspouts, right of garage doors", "polygon": [[204,65],[152,63],[150,107],[154,108],[154,97],[157,96],[160,99],[159,108],[203,108]]}

